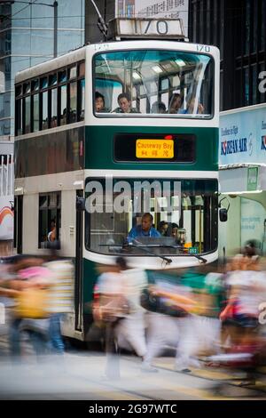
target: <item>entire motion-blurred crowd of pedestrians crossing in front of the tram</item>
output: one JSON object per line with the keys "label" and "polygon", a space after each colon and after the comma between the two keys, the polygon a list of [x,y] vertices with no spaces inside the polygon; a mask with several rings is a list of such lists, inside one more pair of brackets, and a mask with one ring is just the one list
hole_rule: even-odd
{"label": "entire motion-blurred crowd of pedestrians crossing in front of the tram", "polygon": [[[215,266],[145,271],[130,268],[122,257],[115,265],[98,266],[87,340],[98,338],[107,355],[121,349],[135,352],[144,372],[156,372],[153,359],[172,349],[176,370],[187,372],[230,359],[235,365],[262,364],[263,263],[255,248],[246,245]],[[37,355],[62,354],[62,318],[74,313],[72,261],[51,254],[45,260],[25,256],[0,266],[0,330],[4,334],[8,326],[12,357],[25,355],[25,338]]]}

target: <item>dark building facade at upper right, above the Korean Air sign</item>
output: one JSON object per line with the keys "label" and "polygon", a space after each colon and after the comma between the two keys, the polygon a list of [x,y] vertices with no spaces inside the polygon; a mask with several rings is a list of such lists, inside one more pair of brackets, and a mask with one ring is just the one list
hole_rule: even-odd
{"label": "dark building facade at upper right, above the Korean Air sign", "polygon": [[190,0],[189,13],[190,41],[221,52],[221,110],[264,103],[266,0]]}

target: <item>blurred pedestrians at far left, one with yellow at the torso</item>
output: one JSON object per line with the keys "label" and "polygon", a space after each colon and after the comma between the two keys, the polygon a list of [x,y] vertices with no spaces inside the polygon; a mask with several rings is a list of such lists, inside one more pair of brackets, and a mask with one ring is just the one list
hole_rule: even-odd
{"label": "blurred pedestrians at far left, one with yellow at the torso", "polygon": [[[0,338],[8,335],[12,358],[23,358],[29,346],[37,356],[64,352],[60,321],[73,313],[73,294],[73,263],[59,259],[55,252],[45,258],[2,259]],[[2,351],[6,354],[4,344]]]}

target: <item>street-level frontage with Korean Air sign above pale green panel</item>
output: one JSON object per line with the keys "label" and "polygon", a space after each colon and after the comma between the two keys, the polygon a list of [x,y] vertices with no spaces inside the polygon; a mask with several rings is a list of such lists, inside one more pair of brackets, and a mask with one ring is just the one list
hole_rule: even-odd
{"label": "street-level frontage with Korean Air sign above pale green panel", "polygon": [[219,254],[253,240],[266,255],[266,104],[220,114],[219,181],[228,221],[219,225]]}

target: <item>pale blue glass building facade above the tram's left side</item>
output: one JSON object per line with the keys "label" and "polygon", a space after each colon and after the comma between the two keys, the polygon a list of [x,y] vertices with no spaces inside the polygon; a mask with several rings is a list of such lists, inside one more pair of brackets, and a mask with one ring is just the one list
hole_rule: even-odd
{"label": "pale blue glass building facade above the tram's left side", "polygon": [[56,3],[0,1],[0,139],[13,135],[15,74],[51,60],[55,37],[57,55],[84,44],[85,0]]}

